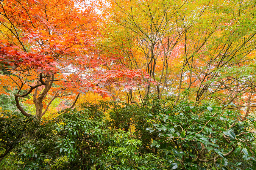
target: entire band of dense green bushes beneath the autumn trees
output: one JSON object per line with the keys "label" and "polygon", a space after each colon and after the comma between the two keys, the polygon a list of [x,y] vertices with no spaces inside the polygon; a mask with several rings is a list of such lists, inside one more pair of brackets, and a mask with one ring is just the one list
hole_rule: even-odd
{"label": "entire band of dense green bushes beneath the autumn trees", "polygon": [[1,149],[11,146],[21,169],[256,168],[254,119],[171,101],[82,104],[49,121],[2,114]]}

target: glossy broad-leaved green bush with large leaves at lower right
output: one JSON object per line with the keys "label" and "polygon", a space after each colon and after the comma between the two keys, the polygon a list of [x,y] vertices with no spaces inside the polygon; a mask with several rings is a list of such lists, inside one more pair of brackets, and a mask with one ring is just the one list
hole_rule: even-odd
{"label": "glossy broad-leaved green bush with large leaves at lower right", "polygon": [[[171,169],[240,169],[243,161],[255,167],[255,139],[252,130],[254,119],[242,121],[239,114],[217,106],[195,107],[194,103],[180,103],[173,111],[159,112],[159,120],[149,131],[157,131],[161,137],[151,146],[157,147]],[[228,159],[242,154],[240,162]],[[249,169],[249,167],[247,167]]]}

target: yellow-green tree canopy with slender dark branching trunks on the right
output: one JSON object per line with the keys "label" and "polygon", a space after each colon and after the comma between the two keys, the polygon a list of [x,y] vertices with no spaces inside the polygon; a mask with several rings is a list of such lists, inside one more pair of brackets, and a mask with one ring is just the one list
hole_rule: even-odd
{"label": "yellow-green tree canopy with slender dark branching trunks on the right", "polygon": [[255,82],[249,81],[255,59],[253,1],[108,2],[106,51],[123,53],[128,66],[145,69],[158,82],[140,93],[130,89],[130,99],[143,101],[151,92],[158,98],[174,94],[175,103],[191,96],[197,104],[211,99],[226,104],[255,93]]}

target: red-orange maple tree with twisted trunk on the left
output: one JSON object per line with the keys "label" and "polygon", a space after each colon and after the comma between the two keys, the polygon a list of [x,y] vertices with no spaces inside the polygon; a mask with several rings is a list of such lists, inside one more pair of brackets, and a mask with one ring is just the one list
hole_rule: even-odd
{"label": "red-orange maple tree with twisted trunk on the left", "polygon": [[109,84],[131,88],[149,78],[142,70],[115,66],[113,61],[122,56],[99,55],[94,41],[101,36],[101,17],[95,12],[100,3],[1,1],[1,79],[13,84],[16,106],[23,115],[30,116],[19,99],[32,94],[36,115],[42,117],[54,98],[77,94],[75,103],[80,93],[89,90],[106,97]]}

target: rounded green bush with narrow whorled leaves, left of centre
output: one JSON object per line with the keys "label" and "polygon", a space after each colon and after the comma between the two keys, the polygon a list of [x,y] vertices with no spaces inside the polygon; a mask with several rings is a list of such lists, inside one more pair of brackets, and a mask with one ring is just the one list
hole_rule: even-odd
{"label": "rounded green bush with narrow whorled leaves, left of centre", "polygon": [[79,167],[90,168],[103,149],[110,131],[100,117],[90,117],[88,109],[69,110],[57,117],[54,125],[57,135],[62,136],[56,150]]}

